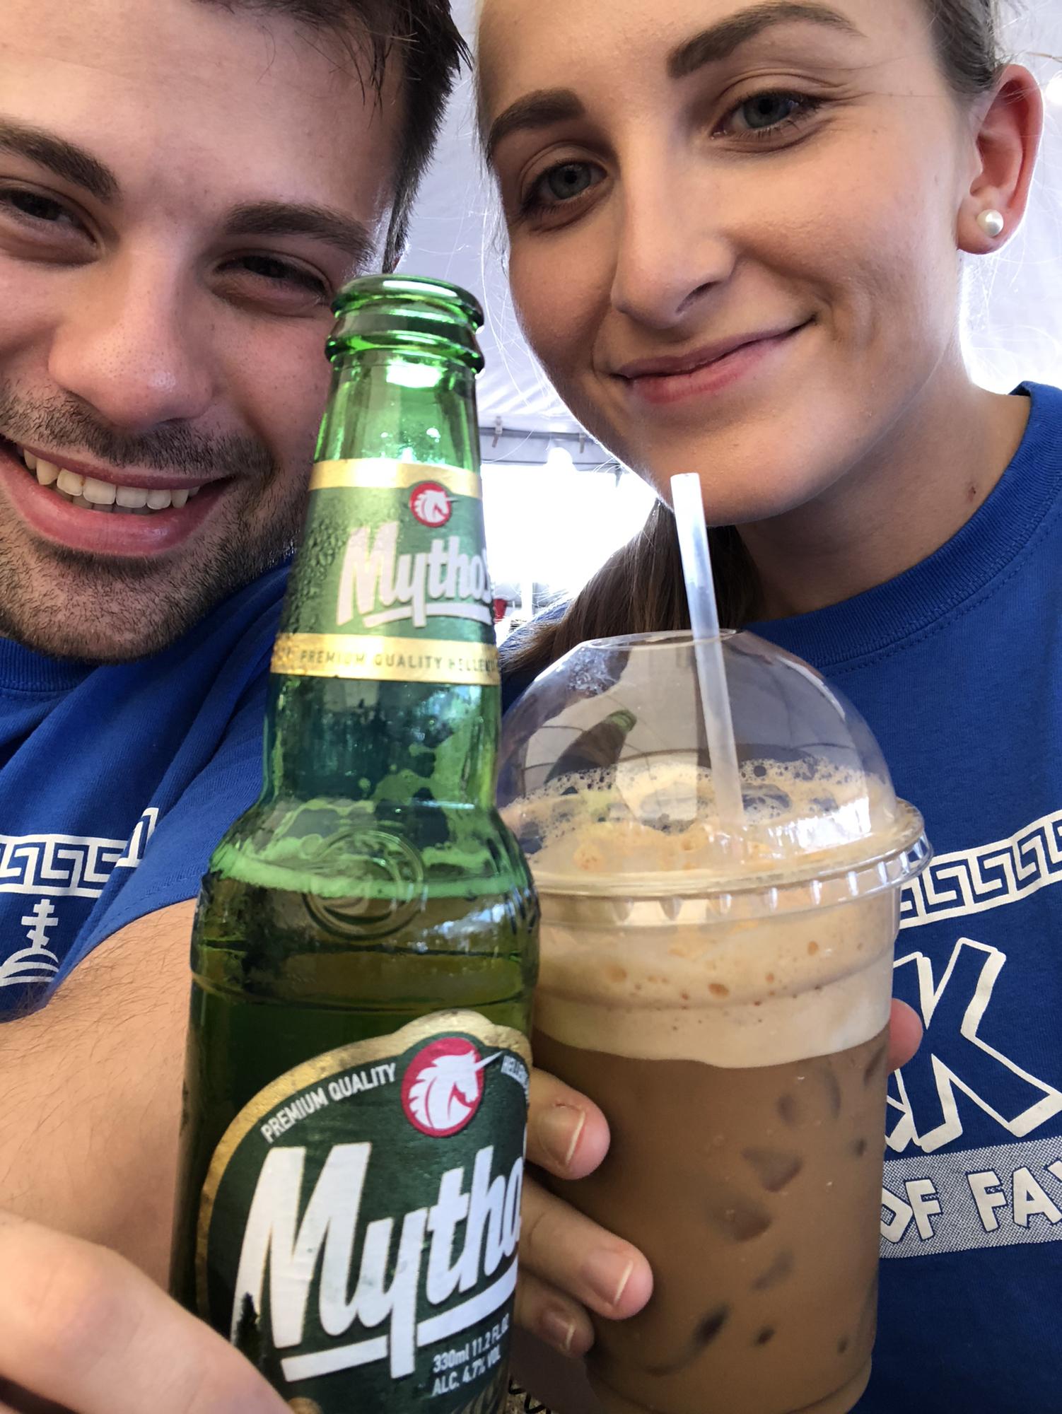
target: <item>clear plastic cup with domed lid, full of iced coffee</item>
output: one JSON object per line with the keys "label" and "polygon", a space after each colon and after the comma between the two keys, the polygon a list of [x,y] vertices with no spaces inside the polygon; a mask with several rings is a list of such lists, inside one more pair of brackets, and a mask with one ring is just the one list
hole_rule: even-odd
{"label": "clear plastic cup with domed lid, full of iced coffee", "polygon": [[542,902],[536,1063],[612,1143],[564,1198],[649,1257],[597,1325],[609,1414],[847,1414],[870,1376],[892,949],[929,860],[865,723],[751,633],[724,662],[747,824],[714,810],[693,642],[584,643],[509,714]]}

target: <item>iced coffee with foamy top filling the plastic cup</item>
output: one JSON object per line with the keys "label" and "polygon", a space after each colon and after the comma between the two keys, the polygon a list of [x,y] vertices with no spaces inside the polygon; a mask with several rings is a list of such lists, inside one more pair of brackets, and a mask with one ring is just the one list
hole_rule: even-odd
{"label": "iced coffee with foamy top filling the plastic cup", "polygon": [[[820,775],[752,781],[798,814],[800,795],[827,789]],[[789,870],[775,851],[764,877],[755,836],[745,880],[704,823],[587,823],[593,783],[566,788],[529,803],[535,1056],[612,1133],[564,1196],[655,1274],[645,1312],[598,1322],[602,1404],[846,1414],[874,1343],[898,891],[860,882],[865,846]],[[829,790],[843,797],[844,782]],[[611,813],[608,792],[591,813]]]}

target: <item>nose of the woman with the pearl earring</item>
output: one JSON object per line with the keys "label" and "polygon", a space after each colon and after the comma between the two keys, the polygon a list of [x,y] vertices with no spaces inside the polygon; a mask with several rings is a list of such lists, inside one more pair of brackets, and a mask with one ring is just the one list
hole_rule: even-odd
{"label": "nose of the woman with the pearl earring", "polygon": [[628,177],[618,222],[611,298],[638,324],[682,324],[734,271],[734,245],[710,198],[669,167]]}

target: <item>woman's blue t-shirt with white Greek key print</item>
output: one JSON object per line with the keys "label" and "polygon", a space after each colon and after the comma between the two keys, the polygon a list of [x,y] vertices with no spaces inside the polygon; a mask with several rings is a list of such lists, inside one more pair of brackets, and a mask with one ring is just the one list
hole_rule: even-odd
{"label": "woman's blue t-shirt with white Greek key print", "polygon": [[897,945],[926,1036],[889,1085],[858,1414],[1062,1410],[1062,392],[1027,392],[1014,462],[936,554],[752,625],[858,707],[936,848]]}

